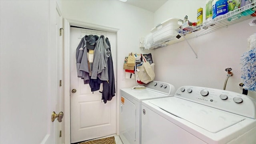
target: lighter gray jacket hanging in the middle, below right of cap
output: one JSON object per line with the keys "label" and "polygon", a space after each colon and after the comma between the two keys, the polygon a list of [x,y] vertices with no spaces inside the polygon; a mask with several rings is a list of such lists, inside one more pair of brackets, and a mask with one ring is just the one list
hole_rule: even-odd
{"label": "lighter gray jacket hanging in the middle, below right of cap", "polygon": [[110,53],[105,37],[100,36],[94,48],[91,79],[97,79],[98,76],[100,80],[108,80],[108,57]]}

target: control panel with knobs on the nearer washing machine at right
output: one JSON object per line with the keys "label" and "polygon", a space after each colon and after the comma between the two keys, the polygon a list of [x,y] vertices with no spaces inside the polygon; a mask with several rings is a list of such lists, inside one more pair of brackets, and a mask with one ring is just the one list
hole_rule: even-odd
{"label": "control panel with knobs on the nearer washing machine at right", "polygon": [[256,101],[244,94],[214,88],[182,86],[178,88],[175,96],[256,119]]}

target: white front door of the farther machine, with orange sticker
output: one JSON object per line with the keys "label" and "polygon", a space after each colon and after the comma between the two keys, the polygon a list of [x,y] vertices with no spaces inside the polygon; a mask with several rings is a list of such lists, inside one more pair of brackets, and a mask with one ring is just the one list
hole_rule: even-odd
{"label": "white front door of the farther machine, with orange sticker", "polygon": [[119,111],[119,132],[124,144],[134,144],[136,140],[136,106],[121,96]]}

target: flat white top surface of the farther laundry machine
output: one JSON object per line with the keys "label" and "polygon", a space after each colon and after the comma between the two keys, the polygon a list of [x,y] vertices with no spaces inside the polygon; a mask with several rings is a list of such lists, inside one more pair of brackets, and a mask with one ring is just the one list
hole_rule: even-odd
{"label": "flat white top surface of the farther laundry machine", "polygon": [[149,88],[145,89],[131,89],[131,88],[122,88],[121,92],[126,93],[128,96],[133,98],[134,100],[141,102],[142,100],[150,100],[155,98],[165,98],[167,94],[163,94],[158,91],[151,90]]}

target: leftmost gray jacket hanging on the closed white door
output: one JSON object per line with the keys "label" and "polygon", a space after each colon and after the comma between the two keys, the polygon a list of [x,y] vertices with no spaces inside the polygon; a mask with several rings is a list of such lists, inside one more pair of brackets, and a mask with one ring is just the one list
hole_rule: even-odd
{"label": "leftmost gray jacket hanging on the closed white door", "polygon": [[76,48],[76,70],[78,78],[84,79],[84,84],[89,84],[89,68],[86,48],[87,36],[84,36]]}

